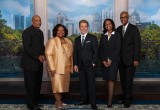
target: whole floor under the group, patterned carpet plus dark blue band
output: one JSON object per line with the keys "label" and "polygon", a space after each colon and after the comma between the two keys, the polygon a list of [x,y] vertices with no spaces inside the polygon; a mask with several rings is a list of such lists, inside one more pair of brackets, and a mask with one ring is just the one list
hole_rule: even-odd
{"label": "whole floor under the group, patterned carpet plus dark blue band", "polygon": [[[64,100],[68,105],[64,110],[92,110],[90,105],[78,106],[78,100]],[[24,99],[0,99],[0,110],[27,110]],[[53,99],[43,99],[39,102],[44,106],[44,110],[56,110]],[[133,100],[130,108],[123,108],[118,104],[118,100],[113,100],[113,107],[107,108],[105,100],[96,101],[98,110],[160,110],[160,100]]]}

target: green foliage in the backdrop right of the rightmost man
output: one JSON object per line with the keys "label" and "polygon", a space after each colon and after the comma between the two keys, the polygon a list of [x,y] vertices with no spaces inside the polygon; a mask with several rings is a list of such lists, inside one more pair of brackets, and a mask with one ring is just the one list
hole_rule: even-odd
{"label": "green foliage in the backdrop right of the rightmost man", "polygon": [[142,39],[141,56],[145,59],[157,59],[160,54],[160,27],[152,24],[140,31]]}

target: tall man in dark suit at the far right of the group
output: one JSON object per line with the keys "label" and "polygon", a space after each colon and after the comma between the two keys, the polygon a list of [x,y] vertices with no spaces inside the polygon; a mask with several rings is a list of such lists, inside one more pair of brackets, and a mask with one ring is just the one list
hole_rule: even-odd
{"label": "tall man in dark suit at the far right of the group", "polygon": [[123,91],[124,108],[131,106],[132,87],[135,68],[140,61],[141,38],[136,26],[128,23],[128,12],[121,12],[122,25],[117,28],[121,33],[121,61],[119,65],[120,81]]}

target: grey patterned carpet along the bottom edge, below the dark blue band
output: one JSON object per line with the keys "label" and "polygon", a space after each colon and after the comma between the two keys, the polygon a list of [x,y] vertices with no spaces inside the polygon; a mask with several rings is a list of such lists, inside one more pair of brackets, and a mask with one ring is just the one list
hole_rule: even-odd
{"label": "grey patterned carpet along the bottom edge, below the dark blue band", "polygon": [[[44,110],[56,110],[52,104],[43,104]],[[160,104],[134,104],[130,108],[123,108],[123,105],[114,104],[112,108],[107,108],[107,105],[98,104],[99,110],[160,110]],[[27,110],[25,104],[0,104],[0,110]],[[77,106],[69,104],[64,110],[91,110],[89,105]]]}

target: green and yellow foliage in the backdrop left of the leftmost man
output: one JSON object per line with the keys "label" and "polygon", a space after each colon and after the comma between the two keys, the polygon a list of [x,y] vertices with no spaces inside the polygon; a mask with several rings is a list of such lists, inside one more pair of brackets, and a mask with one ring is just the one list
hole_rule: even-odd
{"label": "green and yellow foliage in the backdrop left of the leftmost man", "polygon": [[0,19],[0,56],[18,56],[22,53],[22,30],[13,30]]}

